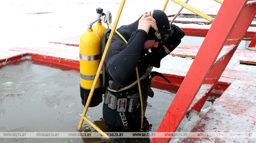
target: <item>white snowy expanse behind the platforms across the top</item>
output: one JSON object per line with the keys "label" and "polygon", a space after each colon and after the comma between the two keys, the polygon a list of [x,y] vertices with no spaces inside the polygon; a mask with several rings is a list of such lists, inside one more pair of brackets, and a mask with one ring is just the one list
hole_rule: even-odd
{"label": "white snowy expanse behind the platforms across the top", "polygon": [[[112,12],[112,24],[121,0],[8,0],[0,5],[0,52],[13,47],[49,46],[49,41],[83,34],[87,23],[96,18],[96,8]],[[134,22],[143,13],[163,8],[165,0],[127,0],[118,25]],[[218,11],[221,4],[213,0],[190,0],[189,5],[203,11]],[[214,6],[215,5],[215,6]],[[178,4],[169,1],[166,13],[177,12]],[[183,9],[184,11],[188,11]],[[204,38],[184,38],[181,44],[200,45]],[[197,41],[197,42],[195,42]],[[53,45],[53,44],[51,44]]]}

